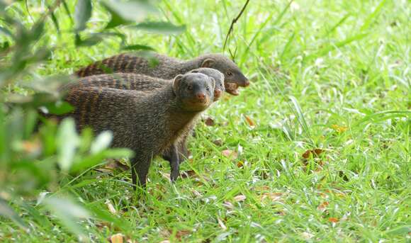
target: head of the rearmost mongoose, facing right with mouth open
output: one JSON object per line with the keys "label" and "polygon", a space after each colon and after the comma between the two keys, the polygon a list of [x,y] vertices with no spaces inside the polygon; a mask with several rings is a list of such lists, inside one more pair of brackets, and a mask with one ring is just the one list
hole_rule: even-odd
{"label": "head of the rearmost mongoose, facing right with mouth open", "polygon": [[220,54],[208,54],[201,57],[201,67],[210,67],[217,69],[224,74],[224,85],[225,91],[237,96],[239,93],[237,91],[238,86],[247,87],[249,86],[249,81],[247,77],[242,74],[240,68],[228,59],[224,55]]}

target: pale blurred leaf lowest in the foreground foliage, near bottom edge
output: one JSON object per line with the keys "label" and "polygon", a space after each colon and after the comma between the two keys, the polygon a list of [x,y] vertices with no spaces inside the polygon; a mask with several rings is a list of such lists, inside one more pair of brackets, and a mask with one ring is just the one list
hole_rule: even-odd
{"label": "pale blurred leaf lowest in the foreground foliage, near bottom edge", "polygon": [[90,217],[89,212],[86,209],[68,198],[45,198],[43,205],[45,205],[48,210],[52,211],[53,215],[57,216],[68,230],[74,234],[84,236],[84,231],[81,229],[81,226],[77,221],[79,219],[87,219]]}

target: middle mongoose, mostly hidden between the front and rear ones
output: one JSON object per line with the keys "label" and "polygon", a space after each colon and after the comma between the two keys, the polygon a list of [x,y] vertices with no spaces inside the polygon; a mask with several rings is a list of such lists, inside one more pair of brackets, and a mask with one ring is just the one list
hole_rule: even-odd
{"label": "middle mongoose, mostly hidden between the front and rear ones", "polygon": [[[191,73],[202,73],[206,74],[208,77],[212,77],[215,80],[215,89],[214,89],[214,99],[213,101],[218,101],[221,96],[221,92],[224,91],[224,75],[217,69],[210,68],[199,68],[190,71]],[[137,91],[151,91],[153,89],[159,89],[167,83],[172,82],[172,80],[157,79],[154,77],[148,77],[145,75],[139,74],[99,74],[94,76],[89,76],[82,79],[82,82],[86,83],[88,86],[101,86],[113,89],[131,89]],[[126,77],[126,78],[125,78]],[[220,87],[219,91],[218,87]],[[193,126],[189,129],[186,134],[181,137],[181,140],[176,143],[176,145],[171,146],[169,149],[166,149],[162,157],[169,161],[170,168],[179,168],[176,164],[181,164],[188,157],[188,149],[186,145],[186,140],[190,132],[193,130]],[[176,147],[176,149],[174,149]],[[179,153],[179,156],[174,154],[175,152]],[[171,173],[171,181],[175,181],[176,177],[179,174]]]}

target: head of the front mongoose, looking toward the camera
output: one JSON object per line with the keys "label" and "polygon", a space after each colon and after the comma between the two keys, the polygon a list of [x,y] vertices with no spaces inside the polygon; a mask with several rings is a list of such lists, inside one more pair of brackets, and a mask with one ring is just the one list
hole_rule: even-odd
{"label": "head of the front mongoose, looking toward the camera", "polygon": [[201,73],[179,74],[174,78],[173,91],[184,111],[204,111],[213,103],[215,80]]}

